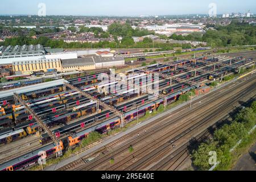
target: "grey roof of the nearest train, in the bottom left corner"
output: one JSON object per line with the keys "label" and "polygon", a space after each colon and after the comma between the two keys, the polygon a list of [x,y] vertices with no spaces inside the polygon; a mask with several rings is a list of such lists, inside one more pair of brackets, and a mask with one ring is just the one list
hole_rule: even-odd
{"label": "grey roof of the nearest train, in the bottom left corner", "polygon": [[0,165],[0,171],[2,169],[7,168],[7,167],[14,166],[15,164],[17,164],[19,162],[23,162],[24,160],[27,160],[27,159],[31,158],[32,156],[36,156],[36,155],[39,154],[40,151],[48,151],[48,150],[50,150],[51,148],[53,148],[55,146],[56,145],[54,143],[48,144],[47,146],[39,148],[38,150],[34,150],[34,151],[29,152],[29,153],[27,153],[25,155],[22,155],[22,156],[20,156],[18,158],[10,160],[9,162],[3,163],[3,164]]}

